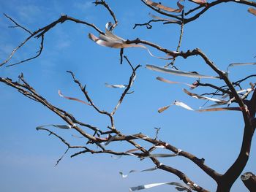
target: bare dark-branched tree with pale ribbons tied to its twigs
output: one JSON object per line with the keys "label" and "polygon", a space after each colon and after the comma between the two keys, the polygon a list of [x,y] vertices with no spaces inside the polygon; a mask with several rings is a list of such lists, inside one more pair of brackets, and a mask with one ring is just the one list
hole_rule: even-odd
{"label": "bare dark-branched tree with pale ribbons tied to its twigs", "polygon": [[[154,42],[146,41],[140,38],[123,39],[121,37],[116,36],[116,34],[113,34],[113,30],[118,26],[118,19],[115,15],[115,12],[104,0],[95,1],[94,4],[97,6],[102,5],[103,7],[105,7],[105,9],[109,12],[110,17],[113,20],[113,23],[108,22],[106,24],[105,30],[100,29],[93,23],[89,23],[78,18],[72,18],[68,15],[61,15],[60,18],[54,20],[52,23],[49,23],[48,25],[43,26],[37,29],[36,31],[30,31],[28,28],[18,23],[14,18],[10,17],[10,15],[4,15],[7,19],[10,20],[10,22],[12,22],[15,25],[13,27],[21,28],[22,30],[26,31],[28,33],[28,37],[26,37],[26,39],[12,51],[10,56],[5,61],[3,61],[0,64],[0,66],[14,66],[34,59],[39,59],[39,56],[42,55],[42,50],[44,49],[45,36],[48,34],[49,31],[53,30],[53,28],[58,27],[60,24],[67,23],[67,21],[70,21],[72,23],[78,23],[83,26],[88,26],[89,28],[94,29],[95,32],[99,33],[99,37],[90,33],[89,38],[98,45],[105,47],[113,47],[120,50],[120,63],[123,64],[124,62],[126,62],[129,65],[130,77],[127,80],[127,84],[124,85],[110,85],[106,83],[106,86],[109,88],[124,89],[116,103],[116,106],[113,107],[113,110],[102,110],[101,107],[94,103],[93,96],[91,96],[91,94],[87,90],[86,85],[83,85],[83,83],[80,82],[80,80],[78,80],[78,78],[75,76],[73,72],[67,71],[72,77],[73,82],[75,82],[75,85],[77,85],[81,93],[83,93],[86,101],[84,101],[83,99],[76,99],[73,97],[64,96],[61,93],[61,91],[59,91],[59,96],[64,97],[65,99],[79,101],[83,104],[86,104],[88,107],[91,107],[100,115],[105,115],[109,119],[109,123],[108,125],[106,125],[107,129],[82,122],[78,120],[78,118],[75,118],[75,115],[72,115],[72,113],[67,112],[67,110],[61,109],[60,107],[57,107],[56,105],[52,104],[48,99],[45,99],[41,94],[39,94],[32,87],[31,83],[26,81],[25,77],[23,76],[23,73],[21,73],[18,77],[18,81],[11,80],[8,77],[0,77],[0,82],[3,82],[7,86],[14,88],[19,93],[22,93],[29,99],[32,99],[44,105],[48,108],[48,110],[54,112],[66,123],[64,125],[53,124],[50,126],[55,126],[57,128],[64,129],[72,129],[73,131],[76,131],[79,134],[79,137],[83,137],[83,139],[86,140],[86,145],[72,145],[66,139],[61,137],[58,133],[48,128],[48,126],[38,126],[37,130],[47,131],[49,134],[57,137],[61,142],[63,142],[64,145],[67,146],[67,150],[64,154],[66,154],[68,150],[76,149],[77,151],[73,153],[71,157],[75,157],[77,155],[81,155],[84,153],[108,153],[117,156],[132,155],[135,156],[135,158],[139,158],[140,160],[143,160],[144,158],[150,158],[155,166],[155,168],[152,168],[150,170],[161,169],[165,172],[170,172],[171,174],[175,174],[183,182],[162,184],[176,185],[176,189],[178,189],[178,191],[208,191],[206,188],[203,188],[200,184],[196,184],[195,181],[193,181],[193,178],[188,177],[187,174],[181,172],[180,169],[173,167],[171,164],[162,164],[161,161],[159,161],[159,158],[181,156],[186,158],[187,161],[191,161],[193,164],[198,166],[203,172],[208,174],[208,176],[211,177],[212,180],[214,180],[217,183],[217,191],[230,191],[230,188],[243,172],[244,167],[246,166],[246,163],[249,159],[252,137],[256,126],[255,82],[250,81],[252,81],[253,78],[256,77],[256,74],[252,72],[252,74],[249,74],[246,77],[233,81],[229,78],[229,69],[233,66],[255,65],[256,63],[233,63],[227,67],[226,71],[222,71],[216,64],[214,64],[211,58],[208,58],[208,56],[206,55],[206,53],[203,52],[203,50],[200,50],[199,48],[186,51],[181,50],[181,40],[184,34],[184,26],[187,23],[192,23],[193,21],[197,20],[198,18],[200,18],[201,15],[205,14],[206,12],[208,12],[208,10],[212,9],[213,7],[217,7],[219,6],[219,4],[224,3],[241,4],[241,7],[249,6],[250,8],[248,9],[248,11],[253,15],[256,15],[256,9],[252,8],[256,7],[255,1],[217,0],[207,2],[205,0],[179,0],[177,2],[178,7],[171,8],[165,4],[161,4],[158,2],[150,0],[141,0],[142,6],[148,7],[148,9],[151,9],[160,16],[151,14],[151,20],[149,20],[146,23],[136,23],[134,28],[146,26],[146,28],[151,29],[153,27],[153,23],[176,25],[176,27],[180,28],[180,35],[179,37],[177,37],[178,45],[176,47],[176,50],[169,50],[166,47],[162,47],[161,45],[155,44]],[[189,4],[189,6],[187,6],[187,4]],[[37,55],[34,55],[31,58],[26,58],[22,61],[18,61],[15,64],[10,63],[12,56],[15,55],[15,53],[20,49],[20,47],[23,47],[24,45],[28,44],[31,41],[31,39],[34,38],[40,39],[40,47],[39,51],[37,52]],[[185,150],[179,150],[178,147],[169,144],[167,141],[165,142],[158,139],[159,128],[156,128],[157,133],[155,137],[148,137],[146,134],[143,133],[124,134],[120,131],[120,128],[116,126],[116,112],[120,105],[124,102],[126,97],[129,94],[133,93],[131,88],[133,83],[135,82],[136,74],[138,74],[138,69],[140,69],[140,65],[134,66],[132,62],[129,61],[128,56],[124,55],[124,50],[128,47],[138,47],[146,49],[149,55],[151,55],[152,57],[168,61],[168,63],[163,67],[156,65],[146,65],[147,69],[151,69],[157,72],[164,72],[167,74],[196,78],[197,80],[195,80],[195,82],[191,84],[183,83],[186,86],[189,86],[189,88],[193,91],[198,90],[200,88],[208,88],[208,90],[210,91],[201,94],[192,93],[187,89],[183,90],[185,93],[187,93],[188,96],[192,96],[195,99],[203,99],[206,101],[214,102],[214,104],[211,107],[208,107],[207,109],[200,109],[195,111],[208,112],[221,110],[236,110],[241,112],[241,115],[244,119],[244,136],[241,143],[241,150],[238,157],[236,158],[236,161],[234,161],[230,167],[227,167],[226,172],[219,173],[212,167],[208,166],[203,158],[197,157],[197,155],[189,153]],[[154,55],[153,53],[151,53],[151,50],[154,49],[158,50],[159,53],[164,53],[165,56],[159,57],[157,55]],[[198,56],[202,58],[206,66],[210,67],[210,69],[213,72],[215,72],[215,76],[200,74],[197,72],[197,69],[195,69],[195,72],[184,72],[178,69],[179,67],[178,65],[176,65],[177,58],[187,59],[193,56]],[[207,81],[208,79],[215,79],[219,82],[213,84],[211,80]],[[166,80],[162,77],[157,77],[157,80],[167,82],[170,84],[181,83]],[[181,101],[174,101],[170,105],[160,107],[158,112],[164,112],[171,105],[184,107],[187,110],[194,110],[192,109],[192,107],[189,107],[189,105],[184,104]],[[225,107],[223,107],[223,105],[225,105]],[[110,149],[110,147],[108,146],[110,142],[116,144],[121,141],[122,144],[126,142],[129,145],[133,146],[132,149],[127,151],[118,151],[115,147],[113,147],[113,149]],[[146,144],[150,144],[151,147],[146,147]],[[166,150],[166,153],[154,153],[154,150],[157,150],[159,148]],[[61,161],[63,156],[64,155],[62,155],[61,158],[59,158],[56,164],[59,164],[59,161]],[[124,174],[122,174],[122,176],[125,177]],[[144,188],[150,188],[152,186],[154,185],[140,185],[138,187],[130,188],[130,191],[138,191]],[[249,189],[250,191],[253,191],[255,190],[255,188],[255,180],[252,180]]]}

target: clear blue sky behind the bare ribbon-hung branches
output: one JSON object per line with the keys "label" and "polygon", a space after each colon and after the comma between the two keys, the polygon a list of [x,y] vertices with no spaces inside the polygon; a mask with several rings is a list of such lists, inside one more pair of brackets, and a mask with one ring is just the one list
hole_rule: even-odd
{"label": "clear blue sky behind the bare ribbon-hung branches", "polygon": [[[180,27],[153,23],[153,28],[132,29],[135,23],[145,23],[151,18],[151,9],[141,1],[108,1],[116,12],[119,21],[115,33],[124,39],[146,39],[162,47],[175,50],[178,44]],[[164,1],[163,1],[164,2]],[[165,1],[170,7],[176,1]],[[194,5],[187,2],[187,9]],[[255,62],[256,17],[247,12],[248,7],[233,3],[221,4],[206,12],[198,20],[184,27],[184,38],[181,50],[200,47],[220,69],[226,70],[228,64],[234,62]],[[9,0],[0,1],[0,12],[10,15],[18,23],[37,30],[67,14],[80,20],[94,23],[102,30],[105,23],[112,21],[103,7],[95,7],[89,0],[49,1],[49,0]],[[157,14],[156,14],[157,15]],[[10,20],[0,17],[0,59],[4,61],[12,49],[26,38],[26,32],[19,28],[8,28]],[[122,92],[120,89],[105,87],[105,82],[126,84],[131,70],[126,62],[119,64],[119,50],[100,47],[88,38],[89,32],[97,35],[92,28],[67,22],[56,26],[45,36],[45,47],[42,55],[34,61],[15,67],[1,67],[0,76],[17,80],[20,72],[31,85],[58,107],[74,113],[85,123],[106,128],[108,119],[98,115],[90,107],[75,101],[59,97],[58,90],[67,96],[84,99],[79,88],[72,82],[67,70],[87,85],[87,89],[99,107],[112,110]],[[39,41],[34,39],[23,47],[13,62],[34,55]],[[151,48],[154,55],[164,56]],[[205,158],[206,164],[224,173],[233,164],[239,153],[243,134],[243,119],[240,112],[206,112],[198,113],[178,107],[159,114],[159,107],[171,104],[174,100],[184,101],[197,109],[203,101],[189,98],[182,85],[169,85],[155,80],[161,76],[168,80],[192,83],[195,79],[174,77],[159,74],[146,69],[146,64],[164,66],[166,61],[152,58],[146,50],[130,48],[124,50],[138,69],[138,76],[132,87],[134,93],[124,99],[124,103],[116,113],[116,126],[125,134],[143,132],[154,137],[154,127],[161,127],[159,139]],[[197,71],[202,74],[216,75],[204,62],[197,57],[187,60],[178,58],[176,65],[184,71]],[[246,74],[255,73],[255,66],[237,66],[230,70],[230,79],[236,81]],[[212,83],[222,85],[217,80]],[[248,82],[245,88],[248,88]],[[195,89],[195,93],[203,93],[205,89]],[[56,161],[66,150],[55,137],[48,137],[43,131],[36,131],[37,126],[45,124],[64,124],[42,104],[31,101],[14,89],[0,84],[0,191],[4,192],[82,192],[82,191],[128,191],[129,187],[146,183],[178,182],[178,177],[163,171],[134,173],[122,179],[119,171],[124,173],[131,169],[147,169],[154,164],[148,159],[140,161],[135,157],[111,158],[110,155],[80,155],[69,158],[75,151],[69,151],[56,167]],[[71,137],[72,131],[52,128],[71,143],[86,141]],[[111,143],[109,147],[127,150],[123,143]],[[150,147],[150,145],[146,145]],[[256,141],[252,142],[250,155],[244,172],[256,173]],[[215,191],[216,185],[206,174],[200,171],[187,159],[165,158],[161,162],[181,169],[195,183]],[[147,191],[175,191],[173,186],[160,186]],[[238,179],[231,191],[246,191]]]}

